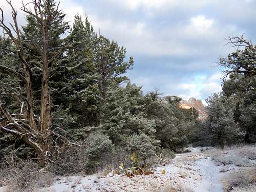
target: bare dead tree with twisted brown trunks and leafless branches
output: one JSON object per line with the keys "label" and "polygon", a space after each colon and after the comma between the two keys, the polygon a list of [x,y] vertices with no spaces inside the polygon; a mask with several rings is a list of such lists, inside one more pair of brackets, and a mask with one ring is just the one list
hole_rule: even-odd
{"label": "bare dead tree with twisted brown trunks and leafless branches", "polygon": [[[41,38],[35,39],[30,34],[19,29],[17,23],[17,11],[14,9],[11,1],[6,0],[11,7],[11,14],[13,24],[10,27],[6,25],[4,20],[3,10],[0,8],[0,27],[3,28],[4,33],[11,39],[15,46],[15,51],[8,50],[15,53],[20,62],[20,67],[23,68],[23,72],[17,72],[9,67],[1,65],[0,71],[7,71],[16,75],[20,81],[25,84],[26,96],[19,94],[17,90],[12,89],[12,92],[0,92],[0,109],[4,114],[4,118],[0,118],[0,130],[13,134],[18,138],[23,139],[27,144],[32,146],[36,152],[38,158],[42,160],[51,159],[52,150],[52,135],[55,134],[54,130],[51,130],[50,122],[50,98],[49,98],[49,74],[53,71],[53,65],[55,60],[63,53],[65,47],[49,48],[49,28],[52,20],[59,13],[58,6],[56,9],[51,9],[50,0],[31,0],[30,3],[22,7],[22,11],[26,14],[34,17],[37,23],[40,25]],[[33,9],[29,9],[27,6],[33,5]],[[43,6],[42,6],[43,5]],[[42,84],[41,84],[41,100],[40,100],[40,116],[38,117],[38,123],[35,122],[34,109],[33,109],[33,89],[32,89],[32,77],[33,73],[30,64],[26,58],[24,41],[22,40],[22,34],[29,40],[30,44],[36,48],[40,54],[40,60],[42,65]],[[9,82],[4,82],[6,86],[11,86]],[[7,107],[4,105],[4,101],[1,95],[11,95],[22,103],[20,114],[10,114]],[[56,131],[56,130],[55,130]]]}

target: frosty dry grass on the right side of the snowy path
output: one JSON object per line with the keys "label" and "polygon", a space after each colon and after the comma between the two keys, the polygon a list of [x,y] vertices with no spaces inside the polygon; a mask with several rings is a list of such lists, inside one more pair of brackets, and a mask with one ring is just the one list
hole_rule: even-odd
{"label": "frosty dry grass on the right side of the snowy path", "polygon": [[204,154],[218,164],[241,167],[239,172],[230,172],[223,178],[225,191],[256,191],[256,145],[214,148]]}

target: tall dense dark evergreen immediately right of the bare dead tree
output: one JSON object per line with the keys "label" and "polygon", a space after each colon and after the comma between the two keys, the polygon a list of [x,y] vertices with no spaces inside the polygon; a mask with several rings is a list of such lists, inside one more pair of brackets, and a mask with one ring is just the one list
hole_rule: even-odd
{"label": "tall dense dark evergreen immediately right of the bare dead tree", "polygon": [[[56,65],[57,73],[51,81],[55,104],[74,118],[68,123],[69,129],[93,126],[97,122],[98,86],[94,63],[96,34],[86,18],[75,16],[73,28],[66,37],[67,49]],[[68,129],[67,127],[67,129]]]}

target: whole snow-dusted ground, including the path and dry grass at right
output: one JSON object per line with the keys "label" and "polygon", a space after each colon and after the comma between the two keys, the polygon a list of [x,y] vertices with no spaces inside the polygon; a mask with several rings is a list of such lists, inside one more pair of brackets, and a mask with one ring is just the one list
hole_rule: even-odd
{"label": "whole snow-dusted ground, including the path and dry grass at right", "polygon": [[225,150],[197,147],[190,148],[190,151],[177,154],[165,166],[156,167],[152,175],[129,178],[99,173],[91,176],[56,177],[51,187],[36,191],[256,191],[255,145]]}

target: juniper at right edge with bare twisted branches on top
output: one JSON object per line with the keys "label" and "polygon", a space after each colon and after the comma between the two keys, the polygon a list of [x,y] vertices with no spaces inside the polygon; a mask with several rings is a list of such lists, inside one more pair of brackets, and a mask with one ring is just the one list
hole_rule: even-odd
{"label": "juniper at right edge with bare twisted branches on top", "polygon": [[222,89],[226,96],[236,98],[233,118],[246,132],[245,141],[255,142],[256,46],[244,39],[243,35],[230,37],[228,44],[238,50],[219,60],[219,66],[223,69]]}

